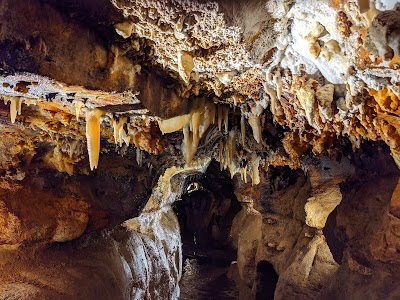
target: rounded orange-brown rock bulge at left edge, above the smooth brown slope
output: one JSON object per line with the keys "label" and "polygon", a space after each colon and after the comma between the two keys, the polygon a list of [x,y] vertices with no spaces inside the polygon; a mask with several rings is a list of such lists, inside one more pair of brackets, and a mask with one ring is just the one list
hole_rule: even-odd
{"label": "rounded orange-brown rock bulge at left edge, above the smooth brown slope", "polygon": [[69,241],[82,235],[89,220],[83,199],[21,184],[1,189],[0,207],[0,244],[6,247]]}

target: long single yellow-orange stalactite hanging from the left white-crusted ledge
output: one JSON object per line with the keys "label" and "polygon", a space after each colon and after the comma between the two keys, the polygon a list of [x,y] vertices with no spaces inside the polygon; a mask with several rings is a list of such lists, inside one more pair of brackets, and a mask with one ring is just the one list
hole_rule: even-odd
{"label": "long single yellow-orange stalactite hanging from the left white-crusted ledge", "polygon": [[86,111],[86,139],[89,153],[90,169],[96,169],[100,154],[100,117],[103,111],[99,108]]}

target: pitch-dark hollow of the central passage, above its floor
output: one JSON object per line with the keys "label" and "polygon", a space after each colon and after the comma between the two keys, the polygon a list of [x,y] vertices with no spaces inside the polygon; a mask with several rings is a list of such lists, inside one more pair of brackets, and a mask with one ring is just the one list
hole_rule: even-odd
{"label": "pitch-dark hollow of the central passage, above its floor", "polygon": [[204,176],[193,177],[174,207],[184,255],[218,264],[235,260],[229,234],[240,209],[232,182],[217,163],[211,163]]}

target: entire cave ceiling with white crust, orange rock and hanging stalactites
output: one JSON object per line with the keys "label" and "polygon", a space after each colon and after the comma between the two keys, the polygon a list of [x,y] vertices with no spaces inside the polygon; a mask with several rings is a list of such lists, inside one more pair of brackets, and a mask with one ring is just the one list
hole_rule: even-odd
{"label": "entire cave ceiling with white crust, orange rock and hanging stalactites", "polygon": [[117,151],[258,183],[365,141],[400,166],[396,3],[3,0],[2,173],[87,174]]}

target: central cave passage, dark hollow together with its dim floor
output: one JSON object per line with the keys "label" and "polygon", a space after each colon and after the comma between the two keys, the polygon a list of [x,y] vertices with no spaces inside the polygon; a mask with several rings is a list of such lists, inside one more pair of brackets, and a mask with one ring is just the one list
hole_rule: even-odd
{"label": "central cave passage, dark hollow together with its dim floor", "polygon": [[241,210],[230,176],[212,162],[200,178],[193,177],[174,204],[183,251],[180,299],[237,299],[228,276],[237,250],[230,237]]}

